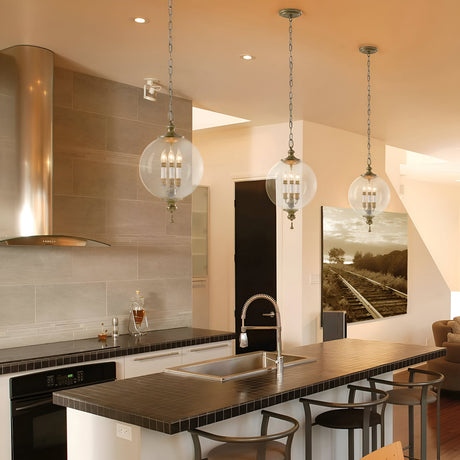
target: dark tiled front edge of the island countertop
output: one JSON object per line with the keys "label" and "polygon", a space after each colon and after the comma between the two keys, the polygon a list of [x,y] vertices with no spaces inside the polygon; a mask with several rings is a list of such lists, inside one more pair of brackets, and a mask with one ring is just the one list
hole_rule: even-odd
{"label": "dark tiled front edge of the island countertop", "polygon": [[132,413],[122,412],[97,404],[91,404],[85,402],[82,399],[68,397],[59,393],[53,393],[53,403],[71,409],[76,409],[94,415],[99,415],[101,417],[117,420],[120,422],[130,423],[153,431],[159,431],[161,433],[173,435],[176,433],[180,433],[182,431],[187,431],[192,428],[198,428],[200,426],[208,425],[210,423],[220,422],[222,420],[227,420],[239,415],[244,415],[249,412],[264,409],[269,406],[274,406],[277,404],[281,404],[283,402],[305,397],[307,395],[330,390],[332,388],[337,388],[359,380],[364,380],[378,374],[384,374],[387,372],[395,371],[397,369],[413,366],[415,364],[423,363],[431,359],[445,356],[445,354],[445,348],[439,348],[436,351],[422,353],[410,358],[397,360],[389,364],[372,367],[351,374],[345,374],[343,376],[332,378],[326,381],[301,386],[296,389],[291,389],[284,392],[277,392],[261,399],[235,404],[230,407],[224,407],[222,409],[213,412],[208,412],[206,414],[201,414],[196,417],[179,419],[177,421],[169,423],[163,420],[156,420],[151,417],[138,416]]}

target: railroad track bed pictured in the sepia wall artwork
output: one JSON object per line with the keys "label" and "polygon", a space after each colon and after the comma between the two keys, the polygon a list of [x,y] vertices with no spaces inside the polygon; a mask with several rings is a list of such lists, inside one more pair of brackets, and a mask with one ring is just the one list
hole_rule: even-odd
{"label": "railroad track bed pictured in the sepia wall artwork", "polygon": [[354,321],[406,313],[406,293],[343,268],[329,270],[337,278],[347,313]]}

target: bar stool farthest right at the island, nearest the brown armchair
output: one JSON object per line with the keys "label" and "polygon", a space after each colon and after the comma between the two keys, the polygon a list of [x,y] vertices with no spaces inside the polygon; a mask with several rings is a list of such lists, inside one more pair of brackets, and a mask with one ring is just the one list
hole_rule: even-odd
{"label": "bar stool farthest right at the island, nearest the brown armchair", "polygon": [[[369,382],[372,388],[376,383],[391,385],[393,390],[388,391],[388,403],[399,406],[408,406],[409,413],[409,449],[410,459],[414,459],[414,407],[420,406],[420,460],[427,460],[426,438],[427,438],[427,405],[436,402],[436,434],[437,434],[437,460],[441,458],[441,434],[440,434],[440,408],[439,398],[441,383],[444,376],[439,372],[426,371],[423,369],[409,368],[409,380],[407,382],[385,380],[378,377],[371,377]],[[415,379],[421,375],[424,380]],[[431,376],[431,378],[428,378]],[[431,389],[430,389],[431,388]]]}

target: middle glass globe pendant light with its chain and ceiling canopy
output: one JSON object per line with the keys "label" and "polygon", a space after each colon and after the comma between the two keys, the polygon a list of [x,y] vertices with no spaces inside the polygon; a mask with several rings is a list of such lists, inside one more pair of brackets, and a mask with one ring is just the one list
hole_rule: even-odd
{"label": "middle glass globe pendant light with its chain and ceiling canopy", "polygon": [[281,17],[289,19],[289,149],[286,158],[270,169],[265,182],[270,200],[287,212],[291,229],[294,228],[295,213],[306,206],[316,193],[315,173],[310,166],[295,156],[292,134],[292,20],[301,14],[302,11],[295,8],[286,8],[279,12]]}

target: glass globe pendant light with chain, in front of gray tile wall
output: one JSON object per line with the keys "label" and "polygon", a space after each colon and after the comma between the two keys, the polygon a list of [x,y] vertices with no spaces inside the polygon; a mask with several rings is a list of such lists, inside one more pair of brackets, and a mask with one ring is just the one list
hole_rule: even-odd
{"label": "glass globe pendant light with chain, in front of gray tile wall", "polygon": [[166,201],[171,222],[177,201],[190,195],[203,176],[203,161],[198,149],[176,133],[172,109],[172,0],[169,12],[169,124],[165,135],[158,137],[144,149],[139,161],[139,175],[145,188]]}

